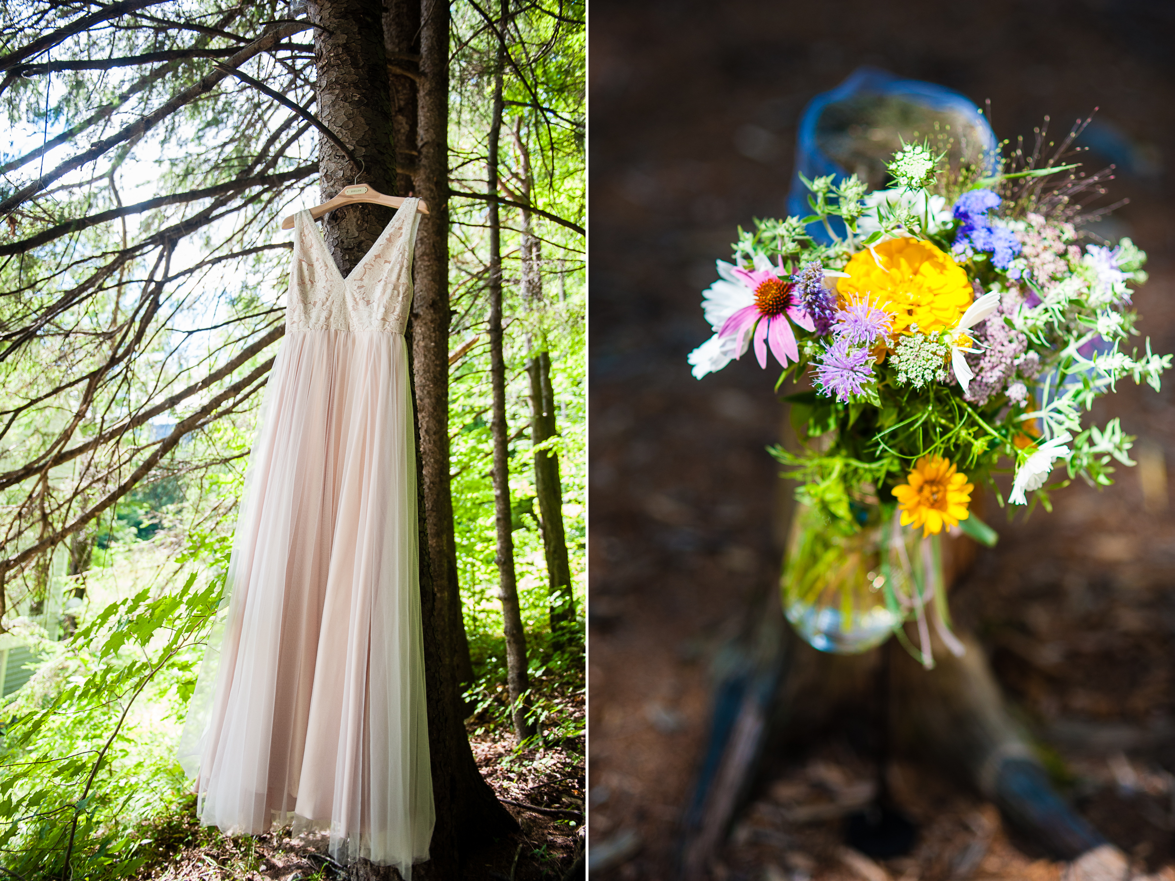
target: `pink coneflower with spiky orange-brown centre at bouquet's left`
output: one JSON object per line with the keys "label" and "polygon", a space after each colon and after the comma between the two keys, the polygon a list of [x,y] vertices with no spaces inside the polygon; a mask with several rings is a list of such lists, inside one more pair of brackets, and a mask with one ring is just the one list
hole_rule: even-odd
{"label": "pink coneflower with spiky orange-brown centre at bouquet's left", "polygon": [[767,366],[768,345],[784,366],[788,361],[799,362],[800,351],[788,318],[804,330],[815,328],[800,303],[795,285],[781,277],[783,271],[783,267],[770,264],[750,270],[736,268],[734,276],[751,292],[754,302],[730,316],[718,331],[719,337],[736,337],[734,350],[741,354],[743,339],[753,329],[754,357],[761,368]]}

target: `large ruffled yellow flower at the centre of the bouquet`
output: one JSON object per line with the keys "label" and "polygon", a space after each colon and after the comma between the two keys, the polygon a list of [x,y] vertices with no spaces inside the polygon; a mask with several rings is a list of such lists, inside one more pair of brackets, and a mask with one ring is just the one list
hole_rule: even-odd
{"label": "large ruffled yellow flower at the centre of the bouquet", "polygon": [[873,253],[853,255],[837,292],[844,300],[854,294],[872,300],[893,316],[895,332],[953,328],[975,298],[964,268],[929,242],[889,238]]}

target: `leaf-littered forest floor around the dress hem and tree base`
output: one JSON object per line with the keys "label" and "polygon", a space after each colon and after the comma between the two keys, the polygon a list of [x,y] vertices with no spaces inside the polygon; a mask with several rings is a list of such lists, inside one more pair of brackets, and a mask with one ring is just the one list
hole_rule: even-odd
{"label": "leaf-littered forest floor around the dress hem and tree base", "polygon": [[[482,776],[518,821],[519,832],[477,848],[465,877],[558,881],[584,852],[582,741],[515,751],[509,732],[471,737]],[[539,808],[543,813],[523,805]],[[340,881],[347,872],[329,855],[325,834],[291,836],[289,829],[229,838],[195,819],[195,796],[183,809],[153,821],[147,842],[156,858],[140,881]],[[394,877],[398,875],[394,874]]]}

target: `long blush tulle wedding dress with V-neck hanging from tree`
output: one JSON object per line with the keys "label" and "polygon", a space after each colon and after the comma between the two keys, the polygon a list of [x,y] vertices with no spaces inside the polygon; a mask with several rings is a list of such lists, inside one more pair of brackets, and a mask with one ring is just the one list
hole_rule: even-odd
{"label": "long blush tulle wedding dress with V-neck hanging from tree", "polygon": [[330,833],[407,880],[434,806],[404,325],[416,200],[345,278],[294,224],[286,337],[181,738],[202,823]]}

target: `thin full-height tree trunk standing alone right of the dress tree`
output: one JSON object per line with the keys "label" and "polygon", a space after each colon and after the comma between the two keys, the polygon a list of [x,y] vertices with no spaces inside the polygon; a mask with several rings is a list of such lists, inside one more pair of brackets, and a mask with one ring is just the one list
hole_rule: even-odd
{"label": "thin full-height tree trunk standing alone right of the dress tree", "polygon": [[[502,0],[502,23],[505,27],[506,0]],[[485,191],[498,195],[498,139],[502,134],[502,76],[505,67],[505,43],[498,41],[497,70],[494,80],[494,119],[490,123]],[[494,437],[494,513],[497,524],[498,599],[506,638],[506,685],[513,706],[515,737],[522,742],[533,729],[526,721],[524,694],[530,687],[526,677],[526,632],[518,606],[518,584],[513,567],[513,533],[510,511],[510,431],[506,426],[506,368],[502,342],[502,226],[498,204],[489,203],[490,226],[490,384],[494,389],[490,433]]]}

